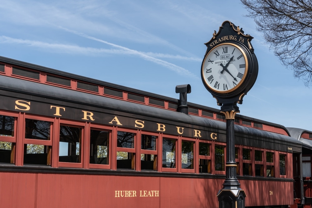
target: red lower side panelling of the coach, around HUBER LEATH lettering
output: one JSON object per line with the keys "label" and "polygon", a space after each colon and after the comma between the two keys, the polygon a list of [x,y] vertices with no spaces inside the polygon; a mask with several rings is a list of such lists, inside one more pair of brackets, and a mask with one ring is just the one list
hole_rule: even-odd
{"label": "red lower side panelling of the coach, around HUBER LEATH lettering", "polygon": [[[215,208],[223,182],[223,179],[1,172],[0,207]],[[245,206],[293,203],[293,193],[285,192],[292,190],[292,182],[240,182],[247,195]],[[132,194],[124,192],[124,196],[134,195],[135,191],[136,197],[121,197],[121,194],[116,197],[116,191],[132,191]],[[145,196],[144,191],[147,191]],[[156,192],[149,195],[148,191],[159,191],[159,197],[155,196]]]}

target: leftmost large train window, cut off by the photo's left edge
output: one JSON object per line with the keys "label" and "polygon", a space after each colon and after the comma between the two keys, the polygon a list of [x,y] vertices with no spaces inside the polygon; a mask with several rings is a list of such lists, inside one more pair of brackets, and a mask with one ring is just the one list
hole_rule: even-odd
{"label": "leftmost large train window, cut off by the photo's left edge", "polygon": [[14,163],[16,119],[16,117],[0,115],[0,163]]}

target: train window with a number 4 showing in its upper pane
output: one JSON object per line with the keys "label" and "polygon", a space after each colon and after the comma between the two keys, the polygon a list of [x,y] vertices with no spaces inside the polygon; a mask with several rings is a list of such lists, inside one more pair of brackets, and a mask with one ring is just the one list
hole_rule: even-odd
{"label": "train window with a number 4 showing in its upper pane", "polygon": [[141,134],[141,170],[157,170],[157,139],[154,135]]}

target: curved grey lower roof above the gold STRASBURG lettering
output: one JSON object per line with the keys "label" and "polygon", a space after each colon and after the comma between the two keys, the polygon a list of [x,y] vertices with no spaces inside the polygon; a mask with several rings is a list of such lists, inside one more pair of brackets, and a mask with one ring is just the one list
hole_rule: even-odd
{"label": "curved grey lower roof above the gold STRASBURG lettering", "polygon": [[[196,128],[205,129],[207,131],[210,130],[219,131],[223,134],[226,133],[226,122],[223,121],[187,115],[176,111],[131,103],[124,100],[88,94],[27,80],[0,76],[0,94],[5,96],[14,96],[12,95],[13,93],[17,93],[17,95],[21,96],[28,95],[31,99],[40,97],[43,98],[41,100],[59,100],[65,103],[66,106],[75,104],[76,106],[79,106],[79,108],[91,106],[97,109],[109,109],[110,111],[122,112],[127,114],[129,117],[141,116],[145,119],[154,119],[154,121],[163,120],[167,123],[174,123],[174,125],[195,126]],[[245,142],[246,145],[251,139],[253,139],[253,142],[257,140],[258,142],[266,141],[271,143],[270,145],[272,149],[278,149],[278,145],[281,143],[296,147],[300,147],[302,145],[301,142],[289,136],[263,131],[256,128],[235,125],[235,131],[236,137],[241,138],[241,142]],[[255,143],[250,143],[248,145],[256,146]]]}

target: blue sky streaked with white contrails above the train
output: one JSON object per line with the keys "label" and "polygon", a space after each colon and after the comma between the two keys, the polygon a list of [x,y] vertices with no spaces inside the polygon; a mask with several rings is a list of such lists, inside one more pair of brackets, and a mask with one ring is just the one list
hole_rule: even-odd
{"label": "blue sky streaked with white contrails above the train", "polygon": [[220,109],[202,84],[205,42],[229,20],[254,37],[255,85],[240,114],[312,130],[312,89],[295,79],[264,44],[239,0],[66,0],[0,4],[0,56]]}

